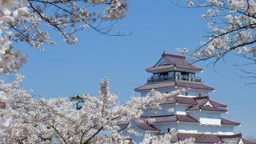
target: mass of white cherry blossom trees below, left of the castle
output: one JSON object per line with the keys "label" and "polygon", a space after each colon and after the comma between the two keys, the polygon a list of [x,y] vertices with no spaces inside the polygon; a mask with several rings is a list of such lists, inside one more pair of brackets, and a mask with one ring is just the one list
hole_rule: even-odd
{"label": "mass of white cherry blossom trees below, left of the castle", "polygon": [[[117,96],[110,94],[108,80],[103,79],[97,96],[79,96],[84,103],[77,110],[76,102],[70,102],[67,98],[35,100],[30,91],[20,87],[21,83],[20,74],[13,83],[1,82],[0,94],[13,98],[12,109],[6,106],[5,110],[0,111],[1,143],[126,143],[126,138],[118,133],[118,122],[139,120],[143,110],[157,109],[159,103],[184,92],[178,90],[161,94],[151,90],[146,97],[134,97],[125,105],[118,105],[115,103]],[[9,105],[6,99],[1,98]],[[174,134],[165,134],[160,138],[146,134],[142,143],[168,143]],[[186,142],[193,142],[193,139]]]}

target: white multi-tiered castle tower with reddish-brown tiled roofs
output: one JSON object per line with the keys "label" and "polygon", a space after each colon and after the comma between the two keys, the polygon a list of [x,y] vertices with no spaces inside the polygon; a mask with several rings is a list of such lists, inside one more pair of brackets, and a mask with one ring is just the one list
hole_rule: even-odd
{"label": "white multi-tiered castle tower with reddish-brown tiled roofs", "polygon": [[[242,138],[242,134],[234,134],[234,126],[240,126],[240,123],[222,118],[228,107],[209,98],[208,93],[214,88],[197,78],[196,74],[201,71],[201,68],[191,65],[183,56],[163,53],[154,66],[146,69],[146,72],[152,74],[146,84],[134,90],[141,93],[141,96],[146,96],[152,89],[170,93],[185,88],[186,93],[162,103],[161,110],[145,110],[142,119],[154,118],[154,122],[122,122],[119,125],[120,131],[133,142],[141,142],[146,131],[150,134],[165,134],[174,128],[178,134],[171,142],[193,137],[197,143],[256,144]],[[173,109],[171,113],[170,109]],[[129,127],[141,136],[129,134]]]}

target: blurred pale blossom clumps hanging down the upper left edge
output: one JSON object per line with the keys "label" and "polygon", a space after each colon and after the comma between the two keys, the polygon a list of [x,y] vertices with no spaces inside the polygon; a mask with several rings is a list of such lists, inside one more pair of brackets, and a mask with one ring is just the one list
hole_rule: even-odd
{"label": "blurred pale blossom clumps hanging down the upper left edge", "polygon": [[0,1],[0,72],[9,74],[20,69],[26,61],[19,51],[12,50],[11,40],[13,33],[9,29],[10,22],[19,20],[23,14],[28,14],[27,1],[2,0]]}

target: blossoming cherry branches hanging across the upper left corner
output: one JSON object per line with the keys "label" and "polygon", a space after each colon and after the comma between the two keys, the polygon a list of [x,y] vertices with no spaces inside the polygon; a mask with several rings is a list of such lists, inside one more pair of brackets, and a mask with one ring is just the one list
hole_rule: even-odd
{"label": "blossoming cherry branches hanging across the upper left corner", "polygon": [[0,72],[9,74],[26,62],[24,55],[14,51],[12,42],[44,50],[40,46],[55,43],[46,27],[57,31],[69,45],[78,42],[74,35],[78,30],[87,28],[120,35],[110,34],[112,25],[102,23],[123,18],[126,11],[126,0],[0,0]]}

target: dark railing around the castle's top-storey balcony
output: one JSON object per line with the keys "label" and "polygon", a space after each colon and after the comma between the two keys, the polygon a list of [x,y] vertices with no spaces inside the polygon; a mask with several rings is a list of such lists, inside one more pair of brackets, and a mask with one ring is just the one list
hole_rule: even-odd
{"label": "dark railing around the castle's top-storey balcony", "polygon": [[176,77],[162,75],[162,76],[159,76],[158,78],[154,78],[154,77],[148,78],[147,82],[174,81],[175,79],[180,81],[201,82],[201,78],[193,78],[187,75],[177,75]]}

